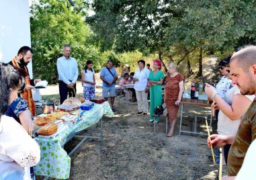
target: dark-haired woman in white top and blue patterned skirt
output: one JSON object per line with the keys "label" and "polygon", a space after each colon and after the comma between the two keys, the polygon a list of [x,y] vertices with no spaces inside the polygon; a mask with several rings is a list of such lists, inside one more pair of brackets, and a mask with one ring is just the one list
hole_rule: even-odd
{"label": "dark-haired woman in white top and blue patterned skirt", "polygon": [[95,72],[92,67],[93,62],[91,60],[87,60],[85,63],[85,69],[82,71],[83,96],[86,100],[94,99],[95,97]]}

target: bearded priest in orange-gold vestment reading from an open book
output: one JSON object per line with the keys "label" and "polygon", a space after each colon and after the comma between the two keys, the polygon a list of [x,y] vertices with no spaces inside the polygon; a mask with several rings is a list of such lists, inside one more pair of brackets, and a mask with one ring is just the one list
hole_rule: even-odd
{"label": "bearded priest in orange-gold vestment reading from an open book", "polygon": [[19,97],[23,97],[26,102],[28,103],[28,107],[30,109],[30,112],[33,114],[33,116],[36,115],[36,109],[34,104],[34,99],[32,96],[31,89],[34,89],[34,85],[41,81],[41,79],[30,79],[30,74],[28,73],[28,63],[31,62],[33,56],[33,50],[32,48],[28,46],[23,46],[19,49],[17,52],[17,56],[15,56],[9,64],[15,68],[20,68],[24,70],[24,73],[26,74],[25,80],[25,89],[22,91],[22,93],[19,93]]}

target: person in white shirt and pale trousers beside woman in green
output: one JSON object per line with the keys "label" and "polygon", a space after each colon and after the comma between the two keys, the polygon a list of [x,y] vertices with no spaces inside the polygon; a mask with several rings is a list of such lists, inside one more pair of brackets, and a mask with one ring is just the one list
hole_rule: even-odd
{"label": "person in white shirt and pale trousers beside woman in green", "polygon": [[148,76],[151,71],[145,68],[145,61],[139,60],[138,67],[135,71],[133,81],[134,89],[136,91],[136,98],[138,102],[138,114],[143,114],[146,116],[148,111],[148,89],[146,85],[148,84]]}

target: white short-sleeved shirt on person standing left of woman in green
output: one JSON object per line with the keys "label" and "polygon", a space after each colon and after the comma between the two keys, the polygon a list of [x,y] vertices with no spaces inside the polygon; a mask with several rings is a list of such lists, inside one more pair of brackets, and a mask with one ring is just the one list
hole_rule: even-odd
{"label": "white short-sleeved shirt on person standing left of woman in green", "polygon": [[151,71],[146,68],[142,69],[142,71],[140,71],[140,69],[135,71],[134,78],[138,79],[138,81],[134,83],[134,89],[136,91],[144,91],[146,89],[149,73],[151,73]]}

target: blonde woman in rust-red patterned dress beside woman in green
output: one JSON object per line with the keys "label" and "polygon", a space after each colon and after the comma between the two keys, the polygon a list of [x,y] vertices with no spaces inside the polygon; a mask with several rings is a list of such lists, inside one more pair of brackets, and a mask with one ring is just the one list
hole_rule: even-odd
{"label": "blonde woman in rust-red patterned dress beside woman in green", "polygon": [[175,62],[171,62],[168,69],[169,73],[165,79],[165,103],[170,124],[167,137],[171,137],[174,133],[173,128],[179,110],[179,103],[183,94],[184,77],[180,73],[177,73],[177,64]]}

